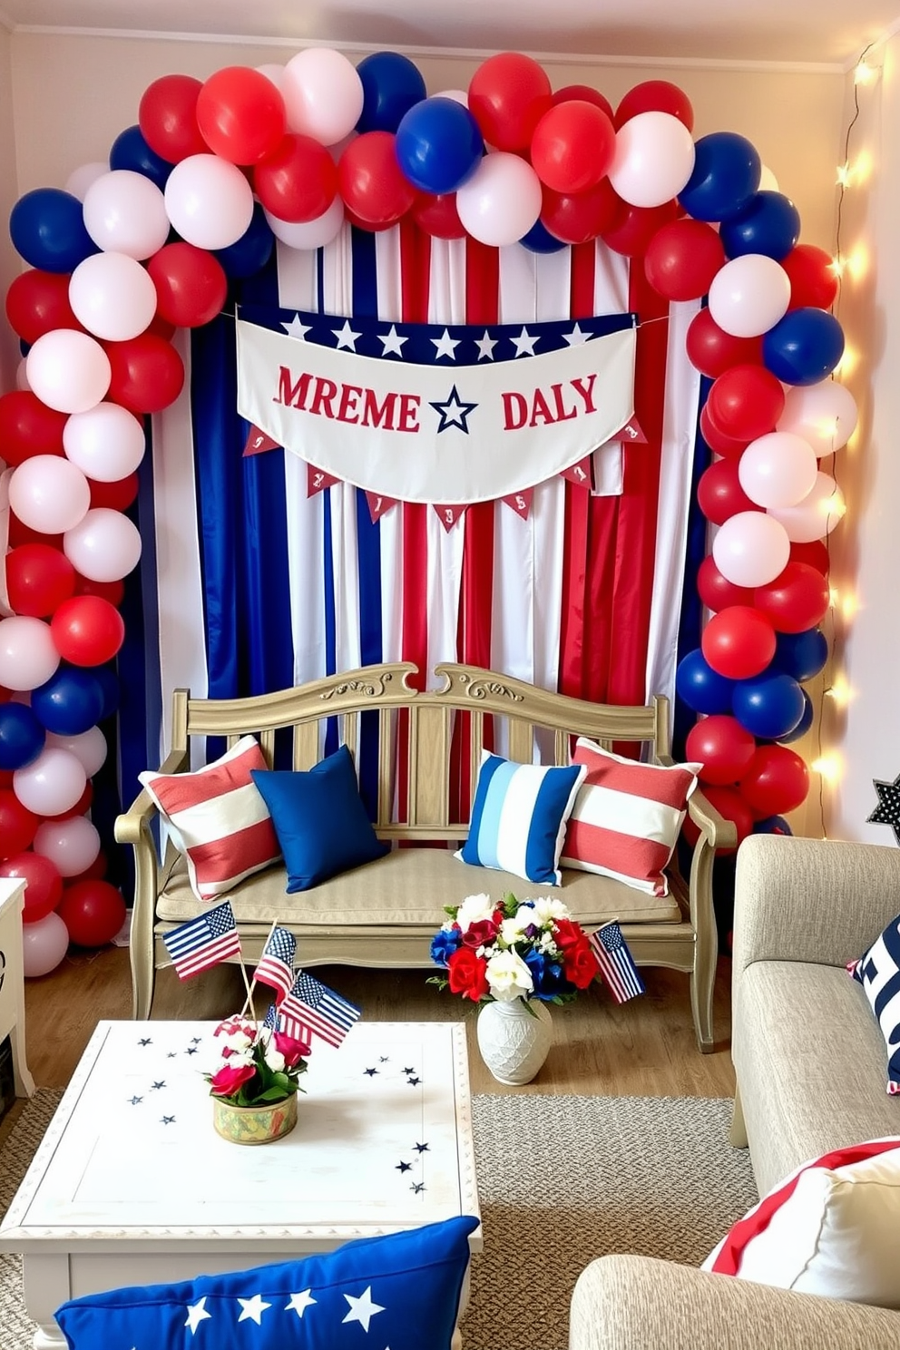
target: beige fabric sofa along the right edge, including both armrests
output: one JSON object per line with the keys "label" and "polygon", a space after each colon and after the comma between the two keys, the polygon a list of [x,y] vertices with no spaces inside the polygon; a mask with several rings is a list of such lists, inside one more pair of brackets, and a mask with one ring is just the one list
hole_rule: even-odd
{"label": "beige fabric sofa along the right edge, including both armrests", "polygon": [[[841,1145],[900,1135],[887,1049],[845,964],[900,910],[900,849],[752,836],[734,914],[733,1142],[760,1193]],[[814,1297],[637,1256],[594,1261],[571,1350],[897,1350],[900,1311]]]}

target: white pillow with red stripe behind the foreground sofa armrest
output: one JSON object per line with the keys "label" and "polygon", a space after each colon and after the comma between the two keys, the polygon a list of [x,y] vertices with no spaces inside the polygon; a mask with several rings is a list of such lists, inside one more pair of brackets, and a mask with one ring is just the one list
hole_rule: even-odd
{"label": "white pillow with red stripe behind the foreground sofa armrest", "polygon": [[779,1289],[900,1308],[900,1138],[804,1162],[703,1262]]}

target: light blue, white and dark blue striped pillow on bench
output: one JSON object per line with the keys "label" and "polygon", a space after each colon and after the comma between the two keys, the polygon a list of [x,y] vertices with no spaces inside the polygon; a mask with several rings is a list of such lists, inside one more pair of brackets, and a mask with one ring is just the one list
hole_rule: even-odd
{"label": "light blue, white and dark blue striped pillow on bench", "polygon": [[565,822],[586,774],[584,764],[514,764],[482,751],[468,838],[456,857],[559,886]]}

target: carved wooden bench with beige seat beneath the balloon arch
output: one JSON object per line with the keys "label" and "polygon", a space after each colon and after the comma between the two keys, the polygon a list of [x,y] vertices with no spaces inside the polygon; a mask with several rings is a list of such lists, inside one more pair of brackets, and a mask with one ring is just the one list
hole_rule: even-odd
{"label": "carved wooden bench with beige seat beneath the balloon arch", "polygon": [[[668,701],[641,707],[588,703],[536,688],[524,680],[478,667],[436,667],[436,690],[418,691],[407,663],[368,666],[256,698],[190,698],[175,690],[171,751],[162,772],[190,767],[194,737],[221,736],[233,745],[258,736],[273,764],[275,737],[291,741],[290,765],[312,768],[321,759],[322,725],[339,718],[340,740],[358,756],[360,717],[378,725],[378,810],[375,829],[394,842],[383,859],[344,872],[298,895],[285,894],[283,867],[271,867],[228,892],[244,959],[255,963],[277,919],[297,934],[304,967],[336,963],[362,967],[430,967],[430,940],[443,906],[466,895],[513,891],[559,895],[587,930],[611,918],[638,965],[665,965],[691,976],[691,1006],[698,1045],[712,1049],[712,983],[718,954],[712,907],[712,861],[716,846],[735,842],[734,826],[695,791],[688,809],[699,830],[688,878],[673,857],[671,894],[658,898],[591,872],[564,869],[561,887],[540,887],[507,872],[475,868],[456,860],[449,845],[466,840],[468,822],[451,810],[452,747],[466,742],[470,801],[491,729],[499,753],[532,763],[536,744],[544,763],[568,764],[572,736],[587,736],[606,748],[642,742],[657,763],[667,763]],[[464,716],[461,716],[464,714]],[[286,732],[282,729],[287,729]],[[399,774],[398,755],[405,772]],[[403,788],[398,791],[398,778]],[[401,799],[402,798],[402,799]],[[184,860],[171,842],[161,863],[151,822],[155,806],[144,791],[116,821],[116,838],[135,850],[135,902],[131,922],[131,969],[135,1018],[150,1017],[157,969],[169,965],[162,941],[169,929],[193,918],[198,902],[188,884]],[[444,846],[434,846],[441,841]],[[426,846],[410,846],[410,845]],[[403,846],[399,846],[403,845]]]}

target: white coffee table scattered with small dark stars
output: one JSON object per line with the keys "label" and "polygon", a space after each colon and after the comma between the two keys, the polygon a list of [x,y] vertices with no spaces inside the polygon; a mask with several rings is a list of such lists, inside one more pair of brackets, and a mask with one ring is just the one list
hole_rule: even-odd
{"label": "white coffee table scattered with small dark stars", "polygon": [[[296,1130],[219,1138],[201,1077],[213,1022],[100,1022],[19,1192],[35,1350],[65,1346],[66,1299],[329,1251],[479,1215],[464,1026],[358,1022],[317,1041]],[[478,1228],[471,1241],[482,1247]]]}

